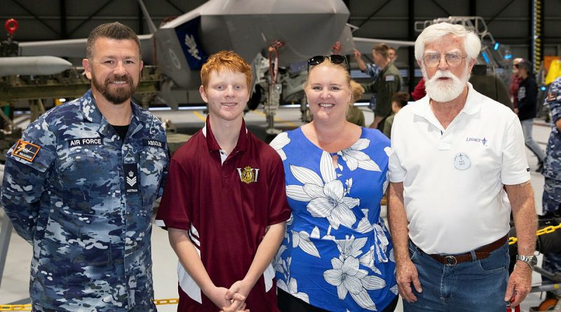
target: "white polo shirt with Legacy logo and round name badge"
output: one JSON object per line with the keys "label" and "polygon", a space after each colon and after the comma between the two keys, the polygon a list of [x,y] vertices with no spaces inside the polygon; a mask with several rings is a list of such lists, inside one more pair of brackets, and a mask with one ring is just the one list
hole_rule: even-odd
{"label": "white polo shirt with Legacy logo and round name badge", "polygon": [[530,179],[518,117],[468,86],[447,129],[428,96],[393,121],[390,181],[403,182],[410,239],[429,254],[468,252],[505,236],[511,205],[503,184]]}

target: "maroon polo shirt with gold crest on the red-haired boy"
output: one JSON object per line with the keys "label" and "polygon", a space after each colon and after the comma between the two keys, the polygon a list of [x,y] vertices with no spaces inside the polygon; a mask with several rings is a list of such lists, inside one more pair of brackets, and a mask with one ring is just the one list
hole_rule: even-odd
{"label": "maroon polo shirt with gold crest on the red-haired boy", "polygon": [[[222,163],[209,119],[173,154],[156,224],[188,231],[212,282],[229,288],[248,272],[266,226],[286,221],[290,208],[276,151],[243,121],[238,143]],[[219,311],[182,267],[178,273],[177,311]],[[245,301],[247,308],[278,311],[272,283],[266,292],[261,276]]]}

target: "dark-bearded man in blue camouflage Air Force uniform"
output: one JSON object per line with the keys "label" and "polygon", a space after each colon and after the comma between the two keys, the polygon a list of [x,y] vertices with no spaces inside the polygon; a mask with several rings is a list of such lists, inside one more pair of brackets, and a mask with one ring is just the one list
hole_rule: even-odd
{"label": "dark-bearded man in blue camouflage Air Force uniform", "polygon": [[133,30],[100,25],[86,49],[91,89],[8,151],[1,202],[33,245],[33,311],[155,311],[151,216],[168,170],[165,130],[131,101],[142,69]]}

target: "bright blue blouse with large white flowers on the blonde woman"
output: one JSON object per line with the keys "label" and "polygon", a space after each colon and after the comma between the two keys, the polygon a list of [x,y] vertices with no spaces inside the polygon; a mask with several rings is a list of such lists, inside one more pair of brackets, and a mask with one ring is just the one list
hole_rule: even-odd
{"label": "bright blue blouse with large white flowers on the blonde woman", "polygon": [[389,145],[369,128],[351,147],[332,154],[310,142],[302,128],[271,142],[283,159],[292,208],[274,260],[280,289],[342,312],[381,311],[396,297],[396,260],[380,217]]}

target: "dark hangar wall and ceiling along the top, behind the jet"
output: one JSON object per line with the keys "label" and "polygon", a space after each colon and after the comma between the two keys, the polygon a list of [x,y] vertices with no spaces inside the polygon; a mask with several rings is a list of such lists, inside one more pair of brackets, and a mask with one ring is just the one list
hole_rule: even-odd
{"label": "dark hangar wall and ceiling along the top, behind the jet", "polygon": [[[0,20],[16,18],[18,41],[84,38],[102,22],[119,20],[137,33],[148,27],[136,0],[1,0]],[[144,0],[156,25],[170,16],[181,15],[204,0]],[[482,16],[495,39],[522,50],[531,36],[532,0],[345,0],[351,17],[360,26],[357,36],[410,40],[410,21],[446,18],[450,15]],[[561,0],[542,0],[543,44],[557,53],[561,44]],[[1,36],[0,38],[4,37]],[[2,38],[2,39],[4,39]]]}

